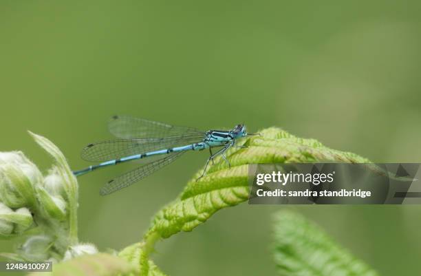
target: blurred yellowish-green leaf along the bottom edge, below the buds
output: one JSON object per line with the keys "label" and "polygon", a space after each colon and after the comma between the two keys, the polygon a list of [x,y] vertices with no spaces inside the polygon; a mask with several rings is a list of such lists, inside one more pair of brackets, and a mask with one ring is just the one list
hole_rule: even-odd
{"label": "blurred yellowish-green leaf along the bottom edge, below the buds", "polygon": [[53,264],[50,273],[30,273],[30,276],[116,276],[130,275],[136,268],[120,257],[105,253],[83,255],[67,262]]}

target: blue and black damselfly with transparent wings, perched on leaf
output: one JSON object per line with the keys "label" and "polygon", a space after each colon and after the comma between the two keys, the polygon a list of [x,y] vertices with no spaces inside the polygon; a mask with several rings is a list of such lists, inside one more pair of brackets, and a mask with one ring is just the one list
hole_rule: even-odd
{"label": "blue and black damselfly with transparent wings, perched on leaf", "polygon": [[[114,193],[138,182],[170,164],[186,151],[209,149],[210,157],[206,161],[202,176],[199,177],[202,178],[209,162],[213,162],[217,156],[222,156],[230,166],[225,153],[230,147],[244,147],[235,145],[238,138],[255,135],[247,134],[245,125],[236,125],[231,130],[199,131],[191,127],[175,127],[130,116],[113,116],[109,121],[109,131],[119,140],[89,144],[82,151],[83,159],[101,163],[74,171],[74,175],[81,176],[89,171],[132,160],[140,160],[142,164],[109,180],[100,190],[101,195]],[[219,147],[215,153],[212,152],[214,147]]]}

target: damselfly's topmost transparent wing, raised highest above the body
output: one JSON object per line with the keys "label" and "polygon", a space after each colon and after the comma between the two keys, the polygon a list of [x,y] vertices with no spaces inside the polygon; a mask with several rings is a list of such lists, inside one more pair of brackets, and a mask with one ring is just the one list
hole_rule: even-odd
{"label": "damselfly's topmost transparent wing, raised highest above the body", "polygon": [[175,127],[164,123],[134,118],[131,116],[113,116],[109,120],[108,129],[114,136],[123,139],[130,138],[164,138],[182,134],[203,134],[191,127]]}

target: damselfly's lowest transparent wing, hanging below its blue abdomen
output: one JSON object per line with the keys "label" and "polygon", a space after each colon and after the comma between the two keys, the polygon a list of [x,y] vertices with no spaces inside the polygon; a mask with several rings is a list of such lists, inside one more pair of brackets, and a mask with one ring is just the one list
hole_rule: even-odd
{"label": "damselfly's lowest transparent wing, hanging below its blue abdomen", "polygon": [[144,164],[143,166],[133,169],[132,171],[129,171],[125,174],[122,174],[121,176],[118,176],[113,180],[109,180],[109,182],[107,182],[107,184],[105,184],[104,187],[102,187],[102,189],[100,190],[100,195],[108,195],[110,193],[114,193],[115,191],[119,191],[123,188],[129,187],[131,184],[138,182],[142,178],[145,178],[151,173],[158,171],[158,169],[161,169],[167,164],[170,164],[175,159],[182,156],[184,152],[185,151],[169,153],[163,158]]}

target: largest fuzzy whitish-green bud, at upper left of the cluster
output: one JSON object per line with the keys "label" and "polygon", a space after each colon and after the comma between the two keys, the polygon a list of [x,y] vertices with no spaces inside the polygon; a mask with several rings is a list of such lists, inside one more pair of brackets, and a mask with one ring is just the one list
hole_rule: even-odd
{"label": "largest fuzzy whitish-green bud, at upper left of the cluster", "polygon": [[35,204],[34,186],[39,169],[20,151],[0,152],[0,200],[11,208]]}

